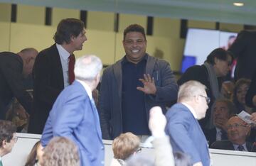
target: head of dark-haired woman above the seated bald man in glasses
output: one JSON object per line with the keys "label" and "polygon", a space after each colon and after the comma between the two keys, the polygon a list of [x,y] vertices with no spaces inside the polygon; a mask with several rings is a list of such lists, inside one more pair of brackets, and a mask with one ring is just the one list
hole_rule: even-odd
{"label": "head of dark-haired woman above the seated bald man in glasses", "polygon": [[245,105],[245,95],[250,87],[250,79],[238,79],[235,82],[233,101],[235,104]]}

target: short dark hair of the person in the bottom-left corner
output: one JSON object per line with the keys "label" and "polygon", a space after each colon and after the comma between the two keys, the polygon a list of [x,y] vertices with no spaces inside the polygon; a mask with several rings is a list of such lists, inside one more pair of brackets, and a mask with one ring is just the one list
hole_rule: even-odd
{"label": "short dark hair of the person in the bottom-left corner", "polygon": [[0,120],[0,147],[2,146],[3,140],[8,143],[16,133],[16,126],[11,121]]}

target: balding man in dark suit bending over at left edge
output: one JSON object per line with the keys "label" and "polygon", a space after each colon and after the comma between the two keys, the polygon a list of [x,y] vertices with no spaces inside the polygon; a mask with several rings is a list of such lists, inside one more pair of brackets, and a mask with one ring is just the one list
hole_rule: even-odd
{"label": "balding man in dark suit bending over at left edge", "polygon": [[31,114],[32,97],[23,85],[23,79],[31,74],[38,55],[34,48],[18,53],[0,52],[0,119],[6,119],[6,111],[13,97]]}

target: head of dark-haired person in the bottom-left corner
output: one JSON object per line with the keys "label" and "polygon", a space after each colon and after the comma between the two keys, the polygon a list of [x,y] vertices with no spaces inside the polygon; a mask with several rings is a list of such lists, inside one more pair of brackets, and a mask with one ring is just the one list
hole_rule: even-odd
{"label": "head of dark-haired person in the bottom-left corner", "polygon": [[10,153],[17,140],[14,123],[0,120],[0,155],[4,156]]}

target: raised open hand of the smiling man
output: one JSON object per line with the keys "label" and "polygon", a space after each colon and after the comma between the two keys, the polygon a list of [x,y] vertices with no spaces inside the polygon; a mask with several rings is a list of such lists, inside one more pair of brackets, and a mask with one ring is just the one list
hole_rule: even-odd
{"label": "raised open hand of the smiling man", "polygon": [[144,74],[144,79],[139,79],[144,85],[144,87],[137,87],[139,91],[145,94],[156,94],[156,84],[154,83],[154,77],[150,74]]}

